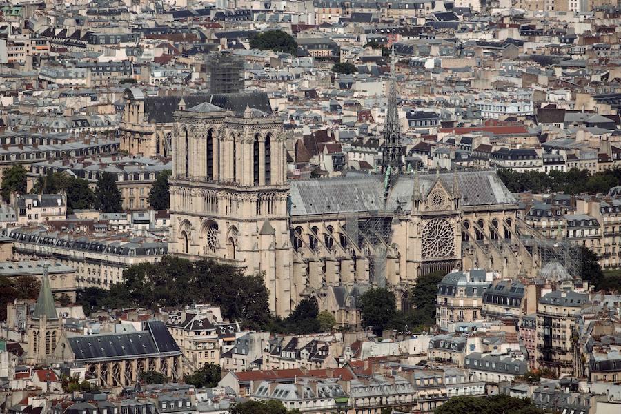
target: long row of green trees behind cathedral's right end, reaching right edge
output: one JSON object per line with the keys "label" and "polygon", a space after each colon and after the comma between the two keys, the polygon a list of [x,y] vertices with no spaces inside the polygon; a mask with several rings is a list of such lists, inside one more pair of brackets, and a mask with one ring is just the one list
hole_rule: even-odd
{"label": "long row of green trees behind cathedral's right end, reaching right edge", "polygon": [[608,193],[621,184],[621,168],[590,174],[587,170],[553,170],[550,172],[515,172],[509,168],[498,170],[498,176],[512,193]]}

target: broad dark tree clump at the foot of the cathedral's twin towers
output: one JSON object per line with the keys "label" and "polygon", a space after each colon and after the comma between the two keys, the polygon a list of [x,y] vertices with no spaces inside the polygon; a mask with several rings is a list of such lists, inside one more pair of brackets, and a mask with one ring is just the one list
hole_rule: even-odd
{"label": "broad dark tree clump at the foot of the cathedral's twin towers", "polygon": [[109,291],[82,290],[76,302],[88,314],[102,306],[157,309],[210,303],[220,306],[224,318],[259,328],[270,319],[268,296],[262,277],[244,275],[213,260],[190,262],[165,256],[155,264],[129,266],[123,272],[123,282],[112,285]]}

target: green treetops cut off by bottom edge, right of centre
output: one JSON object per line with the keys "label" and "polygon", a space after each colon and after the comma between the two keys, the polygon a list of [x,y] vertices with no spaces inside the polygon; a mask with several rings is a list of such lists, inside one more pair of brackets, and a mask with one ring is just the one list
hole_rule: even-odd
{"label": "green treetops cut off by bottom edge, right of centre", "polygon": [[544,414],[530,398],[513,398],[508,395],[493,397],[453,397],[435,409],[435,414]]}

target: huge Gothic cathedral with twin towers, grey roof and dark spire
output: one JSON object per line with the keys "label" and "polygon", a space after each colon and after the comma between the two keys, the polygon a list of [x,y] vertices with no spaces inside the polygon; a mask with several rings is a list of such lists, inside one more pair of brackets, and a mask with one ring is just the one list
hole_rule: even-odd
{"label": "huge Gothic cathedral with twin towers, grey roof and dark spire", "polygon": [[282,120],[265,94],[175,111],[169,251],[263,275],[278,315],[311,296],[344,306],[344,293],[368,286],[408,306],[408,289],[435,270],[532,275],[517,201],[495,172],[404,173],[395,95],[393,82],[382,174],[328,179],[287,180]]}

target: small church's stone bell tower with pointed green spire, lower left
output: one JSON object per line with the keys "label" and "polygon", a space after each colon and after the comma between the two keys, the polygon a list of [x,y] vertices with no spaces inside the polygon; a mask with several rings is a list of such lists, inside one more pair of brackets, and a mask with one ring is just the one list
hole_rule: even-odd
{"label": "small church's stone bell tower with pointed green spire, lower left", "polygon": [[43,266],[41,288],[32,315],[28,315],[28,353],[26,362],[39,364],[54,351],[61,336],[61,319],[56,311],[48,277],[48,264]]}

